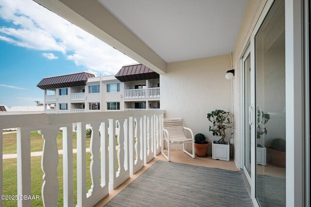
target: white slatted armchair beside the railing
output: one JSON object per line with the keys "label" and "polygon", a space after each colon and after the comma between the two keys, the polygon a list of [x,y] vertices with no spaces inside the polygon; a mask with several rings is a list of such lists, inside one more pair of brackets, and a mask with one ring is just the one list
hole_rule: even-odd
{"label": "white slatted armchair beside the railing", "polygon": [[[191,133],[191,139],[187,138],[184,129],[189,130]],[[164,140],[167,142],[167,156],[164,153],[164,143],[162,143],[161,153],[168,160],[171,161],[170,146],[171,144],[183,144],[183,151],[190,157],[195,158],[194,151],[194,136],[190,128],[184,127],[183,120],[181,118],[163,119]],[[185,150],[185,143],[192,143],[192,154]]]}

